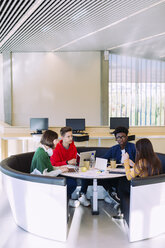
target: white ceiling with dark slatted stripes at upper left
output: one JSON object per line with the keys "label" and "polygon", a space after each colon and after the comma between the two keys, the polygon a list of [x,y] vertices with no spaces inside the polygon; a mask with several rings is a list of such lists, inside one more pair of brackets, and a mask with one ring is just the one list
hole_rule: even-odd
{"label": "white ceiling with dark slatted stripes at upper left", "polygon": [[1,0],[0,52],[110,50],[165,59],[164,23],[165,0]]}

